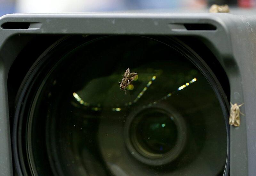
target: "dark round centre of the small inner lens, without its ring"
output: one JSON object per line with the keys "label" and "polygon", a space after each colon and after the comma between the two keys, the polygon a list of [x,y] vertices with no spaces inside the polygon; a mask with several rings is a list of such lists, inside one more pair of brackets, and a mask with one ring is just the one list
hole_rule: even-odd
{"label": "dark round centre of the small inner lens, without its ring", "polygon": [[170,151],[177,140],[177,127],[173,117],[159,110],[140,114],[131,127],[133,145],[147,156],[161,157]]}

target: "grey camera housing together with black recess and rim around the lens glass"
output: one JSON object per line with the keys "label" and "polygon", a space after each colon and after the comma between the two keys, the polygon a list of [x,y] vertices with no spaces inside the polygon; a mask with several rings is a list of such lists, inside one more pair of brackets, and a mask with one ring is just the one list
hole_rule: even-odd
{"label": "grey camera housing together with black recess and rim around the lens glass", "polygon": [[[0,18],[0,25],[2,175],[12,175],[14,170],[19,175],[24,174],[20,169],[22,164],[17,161],[19,142],[14,139],[14,133],[19,129],[15,131],[13,125],[19,123],[15,120],[16,108],[19,106],[17,97],[22,94],[21,90],[26,81],[29,81],[26,74],[33,65],[38,64],[35,63],[36,57],[42,53],[46,55],[47,52],[44,51],[48,47],[60,38],[70,35],[171,36],[194,51],[203,53],[208,65],[205,69],[210,67],[213,70],[224,89],[219,96],[226,97],[233,104],[244,103],[240,111],[245,116],[241,116],[240,126],[226,126],[228,147],[225,174],[255,175],[256,16],[204,13],[10,14]],[[211,54],[207,54],[208,51]],[[215,67],[218,64],[220,67]],[[21,104],[22,102],[24,101]],[[225,118],[228,121],[228,116]],[[212,122],[214,129],[219,121],[213,119]],[[148,163],[150,161],[146,161]]]}

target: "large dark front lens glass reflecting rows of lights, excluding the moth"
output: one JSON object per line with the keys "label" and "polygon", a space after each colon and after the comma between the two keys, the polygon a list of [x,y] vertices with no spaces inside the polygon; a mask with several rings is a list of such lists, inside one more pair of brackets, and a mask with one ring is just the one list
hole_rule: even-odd
{"label": "large dark front lens glass reflecting rows of lights, excluding the moth", "polygon": [[[31,172],[224,173],[223,103],[192,52],[167,37],[71,41],[52,49],[58,62],[44,71],[32,101],[27,128]],[[125,94],[119,82],[127,68],[138,76]]]}

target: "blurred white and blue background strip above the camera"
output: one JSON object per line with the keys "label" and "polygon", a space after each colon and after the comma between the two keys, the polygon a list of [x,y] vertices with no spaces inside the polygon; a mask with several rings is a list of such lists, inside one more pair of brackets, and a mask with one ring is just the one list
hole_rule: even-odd
{"label": "blurred white and blue background strip above the camera", "polygon": [[0,0],[0,16],[8,13],[60,12],[200,12],[212,4],[255,9],[256,0]]}

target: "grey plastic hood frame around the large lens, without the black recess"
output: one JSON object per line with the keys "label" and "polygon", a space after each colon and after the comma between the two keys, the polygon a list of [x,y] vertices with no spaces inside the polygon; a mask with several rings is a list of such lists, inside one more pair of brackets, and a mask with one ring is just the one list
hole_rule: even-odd
{"label": "grey plastic hood frame around the large lens, without the black recess", "polygon": [[[2,25],[7,22],[28,22],[29,26],[23,29],[3,28]],[[188,30],[184,24],[212,24],[217,29]],[[244,103],[240,109],[245,114],[241,116],[241,125],[230,128],[230,175],[256,175],[256,15],[9,14],[0,18],[0,26],[0,175],[13,174],[10,132],[12,124],[9,124],[7,96],[8,72],[30,36],[44,34],[134,34],[200,38],[226,71],[231,102]]]}

